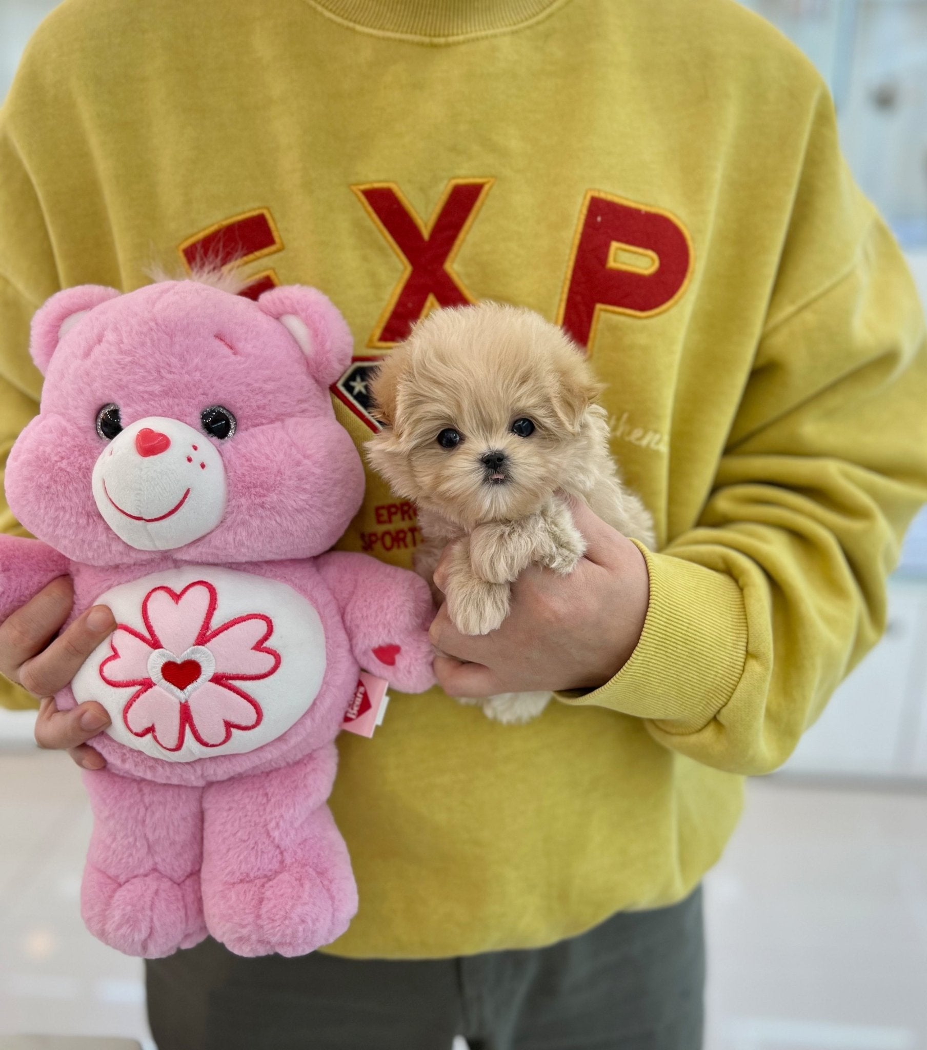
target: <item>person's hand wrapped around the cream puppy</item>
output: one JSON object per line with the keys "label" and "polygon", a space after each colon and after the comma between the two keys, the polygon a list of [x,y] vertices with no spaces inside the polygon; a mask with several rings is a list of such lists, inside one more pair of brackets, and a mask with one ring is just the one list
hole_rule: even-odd
{"label": "person's hand wrapped around the cream puppy", "polygon": [[[451,696],[596,689],[628,662],[650,600],[647,563],[637,547],[574,501],[573,522],[586,554],[568,575],[530,565],[512,584],[511,611],[499,630],[461,634],[441,606],[430,629],[435,674]],[[435,570],[443,589],[452,551]]]}

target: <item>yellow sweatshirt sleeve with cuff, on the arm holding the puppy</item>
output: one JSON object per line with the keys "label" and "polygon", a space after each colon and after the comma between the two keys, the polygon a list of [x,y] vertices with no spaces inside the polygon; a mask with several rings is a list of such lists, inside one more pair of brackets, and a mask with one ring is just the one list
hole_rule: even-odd
{"label": "yellow sweatshirt sleeve with cuff, on the arm holding the puppy", "polygon": [[[886,575],[927,499],[917,290],[846,173],[829,102],[813,135],[712,491],[694,527],[644,551],[650,606],[629,662],[561,697],[640,717],[668,748],[741,774],[784,762],[878,640]],[[839,223],[862,230],[842,265],[820,247]]]}

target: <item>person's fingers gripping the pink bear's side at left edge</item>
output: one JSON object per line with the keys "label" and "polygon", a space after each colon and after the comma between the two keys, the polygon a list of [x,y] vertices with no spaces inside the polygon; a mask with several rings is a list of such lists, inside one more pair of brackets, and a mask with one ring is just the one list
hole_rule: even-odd
{"label": "person's fingers gripping the pink bear's side at left edge", "polygon": [[111,633],[115,620],[105,605],[94,605],[55,637],[72,605],[71,582],[59,576],[7,616],[0,624],[0,674],[41,698],[36,719],[40,748],[67,750],[78,765],[100,770],[106,760],[86,741],[109,724],[105,708],[89,700],[71,711],[59,711],[54,694]]}

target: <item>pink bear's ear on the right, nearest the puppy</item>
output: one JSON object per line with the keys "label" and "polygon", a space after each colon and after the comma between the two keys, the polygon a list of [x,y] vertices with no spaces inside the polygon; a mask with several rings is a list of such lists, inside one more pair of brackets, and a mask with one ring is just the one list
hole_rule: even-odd
{"label": "pink bear's ear on the right, nearest the puppy", "polygon": [[304,285],[272,288],[257,304],[299,343],[310,372],[322,385],[331,386],[351,364],[354,337],[347,321],[318,289]]}

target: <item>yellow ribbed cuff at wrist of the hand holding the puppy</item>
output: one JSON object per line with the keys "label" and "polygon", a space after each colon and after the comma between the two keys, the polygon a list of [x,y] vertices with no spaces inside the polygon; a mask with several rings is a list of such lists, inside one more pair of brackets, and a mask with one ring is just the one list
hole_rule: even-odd
{"label": "yellow ribbed cuff at wrist of the hand holding the puppy", "polygon": [[601,689],[556,696],[649,718],[670,733],[695,733],[724,707],[743,673],[743,595],[722,572],[637,546],[650,573],[650,605],[636,649]]}

